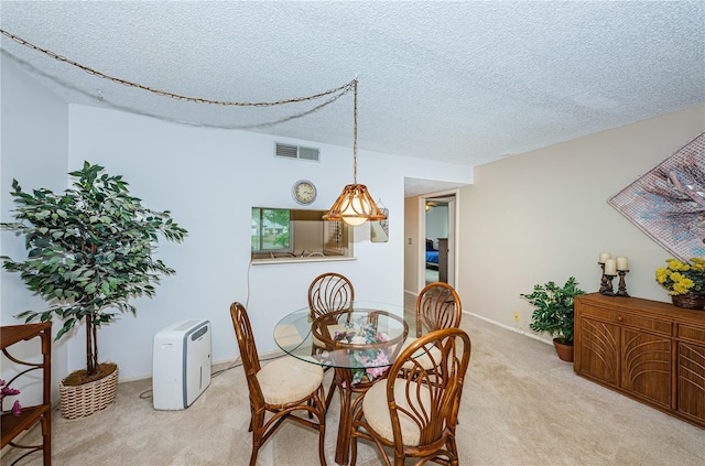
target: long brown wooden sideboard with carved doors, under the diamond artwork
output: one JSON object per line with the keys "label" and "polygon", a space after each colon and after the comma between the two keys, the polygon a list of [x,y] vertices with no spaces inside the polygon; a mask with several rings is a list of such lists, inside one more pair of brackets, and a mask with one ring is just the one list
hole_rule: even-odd
{"label": "long brown wooden sideboard with carved doors, under the diamond artwork", "polygon": [[578,376],[705,427],[705,311],[585,294],[574,339]]}

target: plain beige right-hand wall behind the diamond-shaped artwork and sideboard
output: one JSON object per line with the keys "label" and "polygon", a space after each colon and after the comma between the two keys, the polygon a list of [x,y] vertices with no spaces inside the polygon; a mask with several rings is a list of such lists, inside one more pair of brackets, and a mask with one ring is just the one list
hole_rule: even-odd
{"label": "plain beige right-hand wall behind the diamond-shaped artwork and sideboard", "polygon": [[596,292],[600,251],[629,257],[630,295],[669,302],[654,271],[671,253],[607,199],[704,130],[701,105],[476,167],[475,184],[460,189],[464,308],[509,327],[519,311],[531,333],[519,294],[571,275]]}

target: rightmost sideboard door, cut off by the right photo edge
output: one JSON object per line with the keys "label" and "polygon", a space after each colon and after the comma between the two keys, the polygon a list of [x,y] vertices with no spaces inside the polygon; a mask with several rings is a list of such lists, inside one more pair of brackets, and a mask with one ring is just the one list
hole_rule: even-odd
{"label": "rightmost sideboard door, cut off by the right photo edge", "polygon": [[679,343],[676,411],[705,421],[705,346]]}

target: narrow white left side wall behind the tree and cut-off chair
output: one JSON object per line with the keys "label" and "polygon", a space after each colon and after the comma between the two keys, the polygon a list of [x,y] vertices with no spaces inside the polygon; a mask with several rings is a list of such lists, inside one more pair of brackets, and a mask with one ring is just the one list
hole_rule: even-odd
{"label": "narrow white left side wall behind the tree and cut-off chair", "polygon": [[[0,219],[13,221],[11,210],[15,204],[10,195],[12,178],[17,178],[22,189],[28,192],[36,187],[63,191],[66,187],[68,160],[68,107],[58,97],[40,86],[34,79],[22,73],[17,64],[0,55]],[[0,256],[15,260],[26,257],[24,241],[14,234],[0,232]],[[24,288],[18,273],[0,271],[0,321],[2,325],[21,324],[13,316],[26,310],[41,310],[44,302],[31,295]],[[61,328],[53,326],[54,335]],[[21,347],[20,347],[21,346]],[[52,379],[66,375],[65,343],[55,344],[52,358]],[[39,348],[39,339],[18,345],[15,356],[32,358]],[[2,378],[12,372],[11,365],[2,368]],[[19,380],[15,387],[22,393],[20,402],[30,405],[41,401],[41,391],[36,383],[30,389],[23,387],[26,378]],[[54,384],[54,397],[58,389]],[[40,395],[39,399],[33,397]]]}

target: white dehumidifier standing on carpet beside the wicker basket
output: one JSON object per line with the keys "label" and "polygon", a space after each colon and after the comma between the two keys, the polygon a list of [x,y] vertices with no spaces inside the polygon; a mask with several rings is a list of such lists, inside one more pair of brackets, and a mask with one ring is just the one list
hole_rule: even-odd
{"label": "white dehumidifier standing on carpet beside the wicker basket", "polygon": [[210,384],[210,322],[181,321],[154,335],[155,410],[188,408]]}

